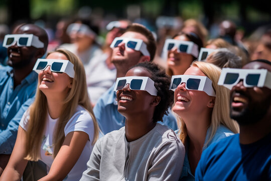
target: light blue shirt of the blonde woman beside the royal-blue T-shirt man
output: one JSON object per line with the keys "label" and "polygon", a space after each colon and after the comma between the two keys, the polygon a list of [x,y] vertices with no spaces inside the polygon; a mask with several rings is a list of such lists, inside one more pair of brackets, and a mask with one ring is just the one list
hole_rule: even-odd
{"label": "light blue shirt of the blonde woman beside the royal-blue T-shirt man", "polygon": [[[178,131],[175,131],[175,132],[177,133]],[[212,140],[208,143],[208,145],[206,145],[206,143],[207,143],[207,141],[209,139],[209,136],[208,136],[209,132],[210,132],[210,129],[208,128],[202,151],[205,150],[212,143],[217,142],[217,141],[221,140],[222,138],[225,138],[225,137],[228,137],[228,136],[231,136],[231,135],[234,134],[234,133],[232,133],[232,131],[230,131],[225,126],[220,125],[217,128],[217,130],[215,132],[215,135],[212,138]],[[181,177],[179,179],[180,181],[184,181],[184,180],[186,180],[186,181],[187,180],[193,181],[193,180],[195,180],[195,175],[193,175],[192,172],[191,172],[190,164],[189,164],[189,160],[188,160],[188,154],[187,154],[188,146],[189,145],[186,144],[186,148],[185,148],[185,159],[184,159],[184,165],[183,165],[182,174],[181,174]]]}

